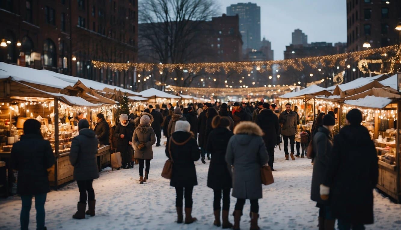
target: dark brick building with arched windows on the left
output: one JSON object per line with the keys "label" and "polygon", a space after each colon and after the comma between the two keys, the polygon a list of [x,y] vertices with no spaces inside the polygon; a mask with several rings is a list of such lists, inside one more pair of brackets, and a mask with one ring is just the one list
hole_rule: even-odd
{"label": "dark brick building with arched windows on the left", "polygon": [[[134,72],[91,60],[137,61],[137,0],[0,1],[0,61],[129,87]],[[22,54],[20,56],[20,54]]]}

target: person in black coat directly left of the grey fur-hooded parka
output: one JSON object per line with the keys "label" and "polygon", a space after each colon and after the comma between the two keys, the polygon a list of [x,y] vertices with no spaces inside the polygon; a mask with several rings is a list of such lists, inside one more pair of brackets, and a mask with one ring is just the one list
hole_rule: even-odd
{"label": "person in black coat directly left of the grey fur-hooded parka", "polygon": [[207,139],[206,151],[211,154],[209,172],[207,174],[207,186],[213,189],[215,194],[213,201],[213,211],[215,214],[215,226],[220,226],[220,200],[223,192],[223,228],[231,228],[228,220],[230,208],[230,190],[231,182],[231,167],[225,161],[227,144],[233,136],[233,132],[229,130],[231,125],[228,117],[215,116],[212,121],[214,128]]}

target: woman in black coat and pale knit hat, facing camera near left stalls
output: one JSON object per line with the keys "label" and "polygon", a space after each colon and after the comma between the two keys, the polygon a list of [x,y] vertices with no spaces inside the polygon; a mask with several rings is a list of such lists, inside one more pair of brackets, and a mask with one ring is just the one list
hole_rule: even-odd
{"label": "woman in black coat and pale knit hat, facing camera near left stalls", "polygon": [[134,133],[134,125],[128,122],[128,115],[123,113],[119,117],[120,123],[115,126],[114,137],[117,137],[117,152],[121,153],[122,169],[134,168],[132,162],[132,134]]}

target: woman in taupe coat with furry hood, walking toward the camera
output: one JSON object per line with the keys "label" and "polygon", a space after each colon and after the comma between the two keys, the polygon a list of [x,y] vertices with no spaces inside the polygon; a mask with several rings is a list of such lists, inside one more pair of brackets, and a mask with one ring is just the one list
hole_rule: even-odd
{"label": "woman in taupe coat with furry hood, walking toward the camera", "polygon": [[[132,147],[134,148],[134,158],[139,161],[139,183],[144,184],[148,180],[150,170],[150,160],[153,159],[152,145],[156,143],[154,130],[150,127],[150,117],[143,115],[140,119],[140,125],[136,127],[132,135]],[[144,176],[144,161],[146,169]]]}

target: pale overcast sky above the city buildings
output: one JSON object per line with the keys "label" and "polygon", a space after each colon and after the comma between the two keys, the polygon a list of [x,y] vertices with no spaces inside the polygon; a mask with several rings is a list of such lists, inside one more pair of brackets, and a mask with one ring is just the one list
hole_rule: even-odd
{"label": "pale overcast sky above the city buildings", "polygon": [[[217,0],[221,13],[239,0]],[[346,42],[346,1],[344,0],[252,0],[260,6],[261,39],[271,42],[274,59],[284,59],[291,33],[300,29],[311,42]]]}

